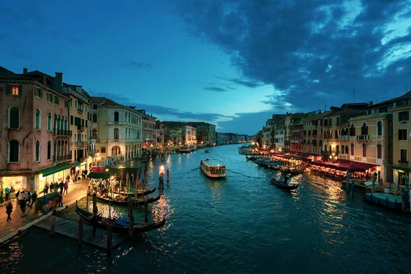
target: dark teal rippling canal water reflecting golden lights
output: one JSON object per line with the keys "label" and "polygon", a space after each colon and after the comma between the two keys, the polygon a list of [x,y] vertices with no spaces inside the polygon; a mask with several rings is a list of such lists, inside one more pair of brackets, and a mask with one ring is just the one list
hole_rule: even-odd
{"label": "dark teal rippling canal water reflecting golden lights", "polygon": [[[292,177],[297,190],[276,188],[269,179],[281,174],[247,162],[238,147],[166,157],[171,182],[150,206],[150,219],[166,217],[162,229],[107,256],[33,227],[0,249],[0,273],[410,273],[410,215],[364,203],[362,192],[347,197],[339,182],[315,174]],[[207,157],[225,162],[225,179],[201,173]],[[160,164],[149,164],[149,188]],[[99,212],[108,215],[108,206]],[[63,216],[77,220],[73,210]]]}

